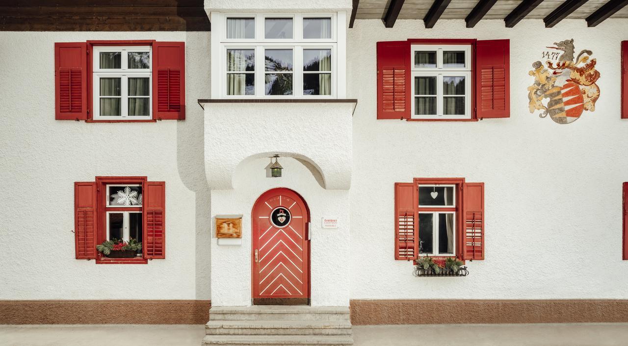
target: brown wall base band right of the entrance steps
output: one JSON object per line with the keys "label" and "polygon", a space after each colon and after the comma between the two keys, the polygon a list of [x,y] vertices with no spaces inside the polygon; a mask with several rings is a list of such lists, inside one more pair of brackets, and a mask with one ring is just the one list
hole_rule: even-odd
{"label": "brown wall base band right of the entrance steps", "polygon": [[351,300],[351,323],[628,322],[628,300]]}

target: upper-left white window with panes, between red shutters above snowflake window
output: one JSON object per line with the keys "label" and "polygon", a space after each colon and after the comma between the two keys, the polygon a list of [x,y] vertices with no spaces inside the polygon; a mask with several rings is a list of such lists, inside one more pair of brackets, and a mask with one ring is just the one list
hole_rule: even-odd
{"label": "upper-left white window with panes, between red shutters above snowflake window", "polygon": [[94,120],[152,118],[150,46],[95,46],[92,63]]}

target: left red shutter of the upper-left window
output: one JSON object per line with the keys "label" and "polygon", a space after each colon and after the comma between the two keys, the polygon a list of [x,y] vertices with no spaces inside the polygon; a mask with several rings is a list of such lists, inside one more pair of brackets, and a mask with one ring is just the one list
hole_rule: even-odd
{"label": "left red shutter of the upper-left window", "polygon": [[55,119],[87,120],[87,44],[55,43]]}

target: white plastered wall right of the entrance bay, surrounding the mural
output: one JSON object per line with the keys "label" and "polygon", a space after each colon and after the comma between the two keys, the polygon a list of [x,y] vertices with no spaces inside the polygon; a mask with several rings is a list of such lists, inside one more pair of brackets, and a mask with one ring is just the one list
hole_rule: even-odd
{"label": "white plastered wall right of the entrance bay, surrounding the mural", "polygon": [[[348,34],[354,114],[351,187],[352,299],[628,298],[622,261],[622,182],[628,121],[620,119],[620,41],[625,19],[595,28],[565,20],[357,20]],[[480,122],[376,120],[376,42],[408,38],[510,39],[511,117]],[[528,112],[528,75],[546,46],[574,39],[592,50],[601,96],[595,112],[559,125]],[[394,182],[465,177],[485,182],[485,260],[465,278],[425,279],[394,260]]]}

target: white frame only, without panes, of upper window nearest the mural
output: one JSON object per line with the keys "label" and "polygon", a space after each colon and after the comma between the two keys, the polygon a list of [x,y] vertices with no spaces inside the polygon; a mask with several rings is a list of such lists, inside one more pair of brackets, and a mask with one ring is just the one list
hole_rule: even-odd
{"label": "white frame only, without panes, of upper window nearest the mural", "polygon": [[[416,51],[435,51],[436,67],[415,67],[414,52]],[[445,68],[443,67],[443,51],[464,51],[465,67],[464,68]],[[413,119],[470,119],[472,117],[472,66],[471,66],[471,45],[412,45],[410,53],[410,61],[412,66],[412,118]],[[414,77],[416,76],[435,76],[436,77],[436,114],[418,115],[416,113],[416,97],[426,95],[415,95],[416,87],[414,86]],[[447,76],[463,76],[465,77],[465,114],[463,115],[445,115],[443,114],[443,77]],[[450,95],[447,95],[450,96]]]}

